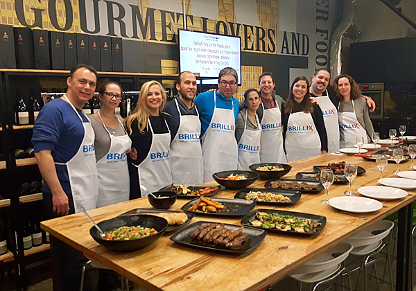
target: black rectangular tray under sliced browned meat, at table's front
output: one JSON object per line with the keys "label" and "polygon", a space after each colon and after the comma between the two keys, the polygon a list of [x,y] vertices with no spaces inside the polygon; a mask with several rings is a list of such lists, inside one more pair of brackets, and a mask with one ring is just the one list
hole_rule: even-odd
{"label": "black rectangular tray under sliced browned meat, at table's front", "polygon": [[[266,237],[266,231],[263,229],[254,229],[250,227],[244,227],[243,233],[248,234],[247,240],[245,241],[245,244],[243,245],[241,249],[236,249],[236,250],[227,249],[226,247],[223,247],[223,246],[215,246],[215,245],[200,243],[198,240],[192,241],[189,238],[189,236],[191,236],[191,233],[193,233],[193,231],[195,231],[198,227],[204,224],[208,224],[208,223],[213,223],[213,222],[207,222],[207,221],[195,222],[187,226],[186,228],[178,231],[177,233],[175,233],[173,236],[171,236],[171,240],[173,240],[175,243],[179,243],[187,247],[204,249],[204,250],[211,251],[211,252],[212,251],[224,252],[227,254],[240,255],[246,252],[250,252],[252,249],[254,249],[254,247],[257,247],[257,245],[259,245],[259,243],[261,243],[261,241]],[[220,224],[218,223],[218,226],[219,225]],[[224,226],[227,229],[234,229],[234,230],[237,230],[240,228],[239,225],[234,225],[234,224],[224,224]]]}

